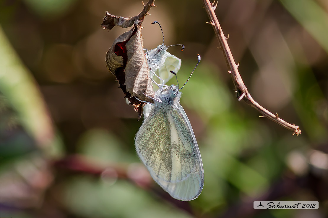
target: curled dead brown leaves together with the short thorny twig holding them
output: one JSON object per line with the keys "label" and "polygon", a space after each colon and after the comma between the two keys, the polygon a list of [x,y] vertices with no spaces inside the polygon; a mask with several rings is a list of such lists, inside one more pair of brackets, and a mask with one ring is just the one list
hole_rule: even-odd
{"label": "curled dead brown leaves together with the short thorny twig holding them", "polygon": [[[134,25],[129,31],[121,34],[113,42],[112,47],[106,54],[106,66],[109,72],[116,76],[120,88],[125,93],[134,110],[138,112],[139,119],[142,114],[144,102],[153,102],[146,95],[154,97],[151,79],[149,78],[148,63],[143,52],[141,37],[141,24],[155,0],[149,0],[143,4],[143,10],[134,17],[126,18],[110,14],[106,15],[101,26],[104,29],[112,29],[115,25],[123,28]],[[145,95],[146,94],[146,95]],[[137,97],[138,99],[136,99]]]}

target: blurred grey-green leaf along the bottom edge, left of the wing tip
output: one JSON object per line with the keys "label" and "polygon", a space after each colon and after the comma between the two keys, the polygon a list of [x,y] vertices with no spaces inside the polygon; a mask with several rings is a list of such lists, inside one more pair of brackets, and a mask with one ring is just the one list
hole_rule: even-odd
{"label": "blurred grey-green leaf along the bottom edge, left of the wing tip", "polygon": [[191,217],[176,207],[154,200],[149,193],[124,180],[112,184],[75,177],[65,183],[62,196],[68,209],[81,217]]}

